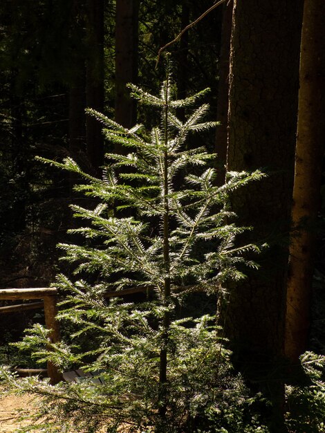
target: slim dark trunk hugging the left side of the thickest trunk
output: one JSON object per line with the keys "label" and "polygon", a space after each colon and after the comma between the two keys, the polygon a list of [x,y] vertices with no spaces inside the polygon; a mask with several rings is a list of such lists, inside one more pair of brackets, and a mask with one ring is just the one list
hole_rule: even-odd
{"label": "slim dark trunk hugging the left side of the thickest trunk", "polygon": [[223,6],[223,23],[221,33],[221,52],[219,60],[218,102],[216,107],[216,154],[218,185],[225,183],[225,163],[227,160],[228,143],[228,93],[229,93],[229,64],[230,64],[230,36],[232,32],[232,3]]}

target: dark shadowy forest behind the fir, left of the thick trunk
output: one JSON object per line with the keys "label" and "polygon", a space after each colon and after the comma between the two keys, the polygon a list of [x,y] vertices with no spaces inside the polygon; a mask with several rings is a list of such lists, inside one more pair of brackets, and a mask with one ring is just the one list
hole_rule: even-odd
{"label": "dark shadowy forest behind the fir, left of the thick trunk", "polygon": [[[209,6],[209,1],[165,1],[159,8],[137,1],[1,3],[1,288],[53,282],[55,246],[75,223],[68,208],[80,200],[72,191],[74,179],[35,156],[71,156],[98,174],[104,151],[113,149],[104,145],[101,125],[86,118],[85,108],[125,127],[154,124],[148,110],[136,113],[126,84],[158,89],[164,75],[162,64],[155,68],[158,49]],[[192,30],[190,51],[185,33],[173,56],[179,96],[210,86],[214,118],[222,16],[216,9]],[[214,136],[208,140],[214,151]],[[21,317],[2,319],[10,333],[26,326]]]}

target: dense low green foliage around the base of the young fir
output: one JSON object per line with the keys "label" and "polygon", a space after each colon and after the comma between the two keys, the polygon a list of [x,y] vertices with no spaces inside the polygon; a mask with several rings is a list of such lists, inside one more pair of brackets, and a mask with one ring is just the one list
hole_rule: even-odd
{"label": "dense low green foliage around the base of the young fir", "polygon": [[[152,332],[143,313],[125,315],[124,326],[129,322],[129,331],[134,326]],[[133,333],[124,342],[117,338],[120,344],[106,347],[105,356],[91,365],[91,369],[104,367],[98,371],[102,385],[84,380],[49,387],[35,378],[26,378],[19,385],[13,380],[12,384],[18,392],[25,387],[44,396],[39,416],[48,416],[49,411],[59,414],[60,425],[65,422],[69,432],[74,431],[73,426],[78,432],[93,432],[102,426],[116,432],[120,425],[124,432],[254,432],[259,423],[252,403],[259,396],[252,399],[241,377],[232,371],[230,352],[223,348],[213,322],[214,317],[203,316],[171,324],[172,386],[163,425],[156,410],[159,343],[145,331]]]}

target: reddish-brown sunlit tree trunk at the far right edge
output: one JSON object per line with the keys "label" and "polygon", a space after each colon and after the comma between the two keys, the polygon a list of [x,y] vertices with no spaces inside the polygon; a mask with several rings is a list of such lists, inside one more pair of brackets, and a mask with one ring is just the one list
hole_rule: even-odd
{"label": "reddish-brown sunlit tree trunk at the far right edge", "polygon": [[286,356],[306,350],[325,139],[325,2],[305,0],[293,188],[293,236],[287,288]]}

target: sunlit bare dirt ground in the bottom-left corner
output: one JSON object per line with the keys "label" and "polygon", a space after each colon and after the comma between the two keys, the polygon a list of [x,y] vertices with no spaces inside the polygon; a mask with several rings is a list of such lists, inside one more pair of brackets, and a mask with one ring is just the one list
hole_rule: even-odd
{"label": "sunlit bare dirt ground in the bottom-left corner", "polygon": [[32,412],[32,396],[3,396],[0,389],[0,433],[15,432],[19,427],[28,425],[20,421],[20,414]]}

